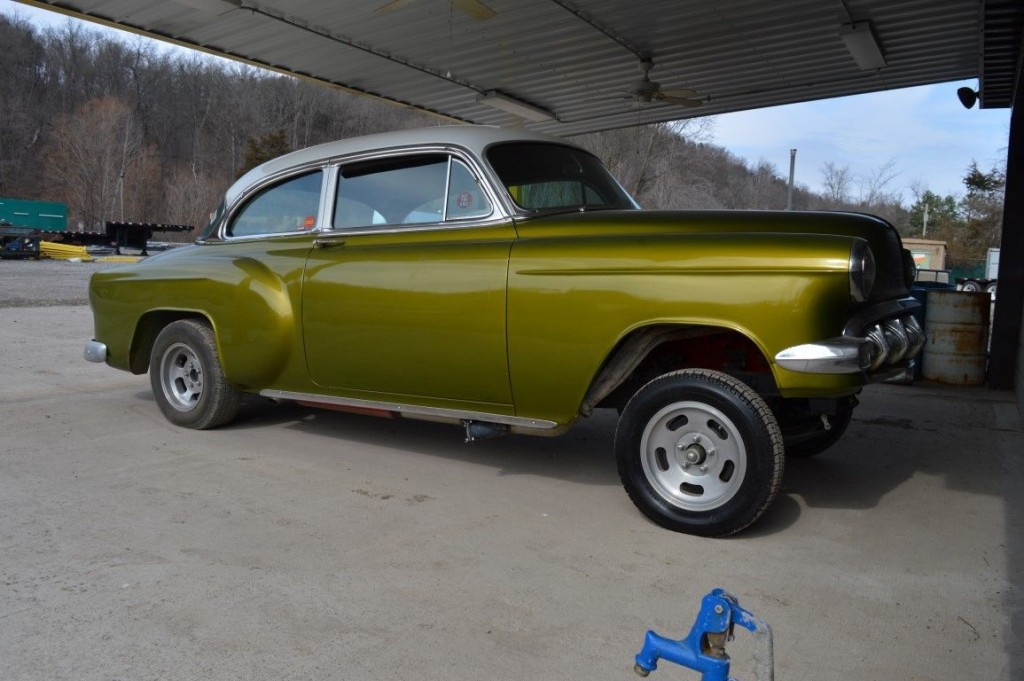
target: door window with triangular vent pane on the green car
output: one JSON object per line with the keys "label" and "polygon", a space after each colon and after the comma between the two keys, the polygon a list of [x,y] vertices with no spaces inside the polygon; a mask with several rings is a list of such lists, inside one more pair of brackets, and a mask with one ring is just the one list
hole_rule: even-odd
{"label": "door window with triangular vent pane on the green car", "polygon": [[343,166],[333,224],[336,229],[430,224],[492,212],[465,164],[446,154],[419,154]]}

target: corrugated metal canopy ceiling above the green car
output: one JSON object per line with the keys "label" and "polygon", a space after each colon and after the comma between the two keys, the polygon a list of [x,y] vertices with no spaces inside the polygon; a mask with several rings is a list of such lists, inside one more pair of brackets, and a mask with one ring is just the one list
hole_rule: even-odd
{"label": "corrugated metal canopy ceiling above the green car", "polygon": [[[375,94],[462,121],[566,135],[977,77],[1009,105],[1018,0],[26,0]],[[841,27],[869,23],[885,67],[862,71]],[[685,108],[638,103],[649,58]],[[550,112],[529,122],[477,100]],[[949,96],[954,96],[950,91]]]}

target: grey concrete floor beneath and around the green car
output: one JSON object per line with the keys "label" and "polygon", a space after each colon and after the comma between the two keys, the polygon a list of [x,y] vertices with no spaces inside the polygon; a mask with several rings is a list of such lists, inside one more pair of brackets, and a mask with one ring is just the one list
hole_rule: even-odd
{"label": "grey concrete floor beneath and around the green car", "polygon": [[1010,394],[873,386],[753,529],[703,540],[630,504],[613,414],[464,445],[253,403],[194,432],[82,360],[90,335],[84,306],[0,309],[5,681],[630,679],[719,586],[774,627],[779,680],[1024,678]]}

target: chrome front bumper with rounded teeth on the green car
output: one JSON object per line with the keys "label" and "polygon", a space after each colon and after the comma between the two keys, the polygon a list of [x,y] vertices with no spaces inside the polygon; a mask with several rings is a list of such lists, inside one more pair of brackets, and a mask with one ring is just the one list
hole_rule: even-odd
{"label": "chrome front bumper with rounded teeth on the green car", "polygon": [[925,331],[912,314],[872,324],[863,334],[787,347],[775,363],[804,374],[873,373],[911,359],[925,346]]}

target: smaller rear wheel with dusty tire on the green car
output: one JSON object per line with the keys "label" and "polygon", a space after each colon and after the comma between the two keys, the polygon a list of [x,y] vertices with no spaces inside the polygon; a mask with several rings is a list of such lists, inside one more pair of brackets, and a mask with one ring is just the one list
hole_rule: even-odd
{"label": "smaller rear wheel with dusty tire on the green car", "polygon": [[222,426],[242,405],[242,392],[224,376],[213,330],[196,320],[173,322],[157,336],[150,383],[167,420],[185,428]]}

